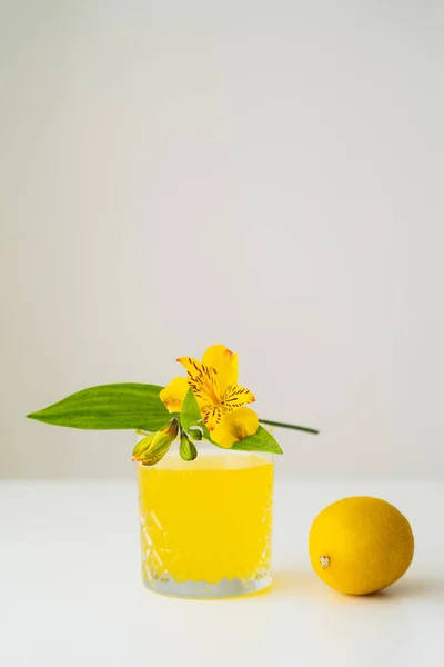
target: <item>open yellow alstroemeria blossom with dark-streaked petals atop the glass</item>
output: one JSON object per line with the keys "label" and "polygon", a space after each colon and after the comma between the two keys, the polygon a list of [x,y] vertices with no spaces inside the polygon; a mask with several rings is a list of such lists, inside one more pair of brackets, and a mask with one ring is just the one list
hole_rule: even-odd
{"label": "open yellow alstroemeria blossom with dark-streaked petals atop the glass", "polygon": [[223,345],[212,345],[202,361],[192,357],[180,357],[178,361],[186,369],[188,377],[174,378],[160,392],[170,412],[180,411],[191,387],[215,442],[232,447],[236,440],[255,434],[258,415],[242,408],[255,399],[249,389],[238,385],[238,355]]}

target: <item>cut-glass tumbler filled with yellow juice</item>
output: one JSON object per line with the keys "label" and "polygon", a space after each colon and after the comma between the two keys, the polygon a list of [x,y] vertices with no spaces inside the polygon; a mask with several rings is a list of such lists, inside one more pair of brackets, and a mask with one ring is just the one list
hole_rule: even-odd
{"label": "cut-glass tumbler filled with yellow juice", "polygon": [[249,595],[271,584],[273,461],[200,449],[138,465],[142,578],[189,598]]}

